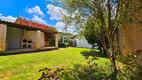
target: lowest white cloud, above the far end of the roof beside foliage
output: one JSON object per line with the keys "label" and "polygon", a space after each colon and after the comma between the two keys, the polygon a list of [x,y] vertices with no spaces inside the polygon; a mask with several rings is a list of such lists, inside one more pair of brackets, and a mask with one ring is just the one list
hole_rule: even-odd
{"label": "lowest white cloud, above the far end of the roof beside foliage", "polygon": [[77,34],[74,25],[67,26],[67,29],[64,29],[66,27],[65,23],[64,22],[57,22],[55,27],[59,32]]}

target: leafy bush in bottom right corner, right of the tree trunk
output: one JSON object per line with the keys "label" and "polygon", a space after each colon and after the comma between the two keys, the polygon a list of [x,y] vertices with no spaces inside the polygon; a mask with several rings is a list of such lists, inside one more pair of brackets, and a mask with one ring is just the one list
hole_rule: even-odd
{"label": "leafy bush in bottom right corner, right of the tree trunk", "polygon": [[137,55],[119,55],[117,60],[121,62],[121,67],[117,75],[117,79],[121,80],[140,80],[142,77],[139,75],[139,71],[142,71],[142,67],[136,62]]}

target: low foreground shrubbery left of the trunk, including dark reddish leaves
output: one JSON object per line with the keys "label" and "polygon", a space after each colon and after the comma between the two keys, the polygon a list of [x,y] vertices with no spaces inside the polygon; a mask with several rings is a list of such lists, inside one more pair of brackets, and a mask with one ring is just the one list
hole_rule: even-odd
{"label": "low foreground shrubbery left of the trunk, including dark reddish leaves", "polygon": [[102,80],[107,79],[104,69],[99,67],[89,57],[85,64],[74,64],[73,68],[42,69],[42,76],[39,80]]}

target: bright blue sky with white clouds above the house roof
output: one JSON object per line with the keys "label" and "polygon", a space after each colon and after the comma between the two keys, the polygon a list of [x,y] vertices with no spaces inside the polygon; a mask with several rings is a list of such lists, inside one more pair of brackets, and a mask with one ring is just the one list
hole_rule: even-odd
{"label": "bright blue sky with white clouds above the house roof", "polygon": [[76,34],[75,26],[64,30],[61,22],[66,10],[55,6],[50,0],[2,0],[0,2],[0,20],[15,22],[17,17],[55,27],[60,32]]}

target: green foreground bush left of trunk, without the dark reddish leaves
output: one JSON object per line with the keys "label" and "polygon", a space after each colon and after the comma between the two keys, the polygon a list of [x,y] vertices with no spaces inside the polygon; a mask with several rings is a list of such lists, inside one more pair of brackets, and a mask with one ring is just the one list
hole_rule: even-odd
{"label": "green foreground bush left of trunk, without the dark reddish leaves", "polygon": [[92,57],[89,57],[86,64],[74,64],[73,68],[64,70],[60,76],[64,80],[102,80],[107,78],[104,69],[98,67]]}

